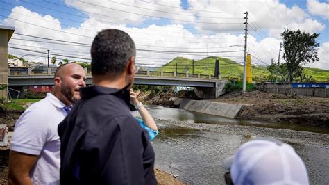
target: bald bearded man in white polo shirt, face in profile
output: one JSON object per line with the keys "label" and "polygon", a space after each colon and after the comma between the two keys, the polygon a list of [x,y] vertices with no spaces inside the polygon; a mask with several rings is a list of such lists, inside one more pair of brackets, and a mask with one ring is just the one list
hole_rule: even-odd
{"label": "bald bearded man in white polo shirt, face in profile", "polygon": [[31,105],[15,124],[9,159],[9,184],[60,184],[58,124],[80,99],[86,74],[81,65],[58,67],[53,93]]}

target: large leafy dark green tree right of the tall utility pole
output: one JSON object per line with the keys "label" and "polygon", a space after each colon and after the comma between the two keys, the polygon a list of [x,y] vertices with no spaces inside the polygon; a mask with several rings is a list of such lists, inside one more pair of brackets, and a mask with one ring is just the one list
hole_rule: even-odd
{"label": "large leafy dark green tree right of the tall utility pole", "polygon": [[[283,59],[287,64],[287,71],[289,74],[289,82],[294,81],[294,73],[303,72],[299,67],[303,65],[319,61],[317,56],[317,50],[319,43],[316,38],[319,33],[301,32],[299,29],[296,31],[290,31],[285,29],[281,33],[283,39],[283,48],[285,52],[283,53]],[[298,75],[299,76],[299,75]]]}

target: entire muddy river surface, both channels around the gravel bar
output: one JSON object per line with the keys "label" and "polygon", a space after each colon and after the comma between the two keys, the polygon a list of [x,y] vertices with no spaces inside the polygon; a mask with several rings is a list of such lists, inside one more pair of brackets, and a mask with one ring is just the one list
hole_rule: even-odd
{"label": "entire muddy river surface, both channels around the gravel bar", "polygon": [[[249,137],[242,134],[234,134],[232,131],[226,134],[225,131],[218,133],[211,130],[205,131],[202,129],[178,127],[177,124],[171,124],[172,122],[234,124],[238,125],[238,127],[250,125],[250,127],[265,127],[264,129],[271,127],[329,133],[328,129],[319,129],[317,127],[235,120],[192,113],[177,108],[164,108],[162,106],[150,106],[149,110],[155,119],[161,119],[158,122],[160,135],[153,140],[156,157],[155,166],[178,175],[179,179],[189,184],[224,184],[223,174],[225,170],[221,167],[221,162],[227,156],[233,155],[240,145],[249,140]],[[328,139],[327,135],[323,136],[323,139]],[[275,138],[285,140],[285,138],[280,138],[280,136]],[[311,183],[328,184],[329,145],[289,144],[294,147],[305,162]]]}

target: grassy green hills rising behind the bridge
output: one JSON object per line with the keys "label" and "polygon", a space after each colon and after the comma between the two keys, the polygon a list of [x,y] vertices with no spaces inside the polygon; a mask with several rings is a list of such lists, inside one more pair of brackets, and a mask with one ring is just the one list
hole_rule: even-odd
{"label": "grassy green hills rising behind the bridge", "polygon": [[[244,66],[243,63],[237,63],[228,58],[221,58],[219,56],[210,56],[199,61],[194,61],[194,74],[212,74],[214,75],[214,64],[216,58],[219,58],[219,68],[222,77],[243,77]],[[177,67],[176,67],[177,63]],[[251,61],[253,63],[253,61]],[[192,60],[183,57],[174,58],[163,67],[164,72],[189,72],[193,71]],[[159,69],[160,70],[160,69]],[[321,70],[317,68],[305,67],[305,74],[312,76],[316,81],[329,81],[329,70]],[[259,67],[252,65],[253,78],[256,81],[264,80],[271,74],[266,67]],[[275,74],[274,74],[275,76]]]}

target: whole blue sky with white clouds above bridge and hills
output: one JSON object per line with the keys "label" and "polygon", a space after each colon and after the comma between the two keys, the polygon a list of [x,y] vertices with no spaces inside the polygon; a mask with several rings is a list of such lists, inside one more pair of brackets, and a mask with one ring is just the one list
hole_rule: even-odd
{"label": "whole blue sky with white clouds above bridge and hills", "polygon": [[[140,49],[199,51],[196,54],[150,54],[141,51],[140,58],[149,60],[141,60],[143,63],[167,63],[170,61],[167,58],[176,56],[199,59],[216,54],[217,51],[219,51],[217,55],[221,56],[226,56],[221,54],[221,51],[236,51],[227,56],[232,56],[231,59],[239,62],[242,56],[239,50],[244,44],[244,35],[241,34],[244,32],[243,12],[247,10],[250,16],[248,52],[254,54],[254,64],[267,65],[271,58],[276,59],[280,33],[284,28],[288,28],[320,33],[318,42],[321,44],[319,48],[321,60],[310,67],[329,68],[326,66],[329,51],[329,15],[326,13],[327,10],[329,11],[329,2],[326,0],[85,0],[84,2],[1,0],[0,24],[15,26],[16,33],[70,41],[82,40],[87,43],[91,42],[101,28],[113,27],[130,33],[137,47],[140,45]],[[157,17],[166,17],[166,19]],[[219,23],[211,24],[211,22]],[[238,24],[235,24],[236,22]],[[28,29],[30,27],[34,32]],[[49,28],[52,27],[57,31],[51,31]],[[81,38],[82,36],[78,35],[85,36]],[[15,37],[23,38],[19,35]],[[49,47],[52,51],[58,49],[58,53],[63,52],[59,50],[60,47],[65,47],[22,40],[12,40],[10,43],[29,45],[31,47],[29,49],[39,47],[42,50]],[[76,51],[88,52],[88,49],[67,47],[67,51],[77,49]],[[15,52],[23,54],[23,51]],[[154,56],[158,61],[150,59]]]}

